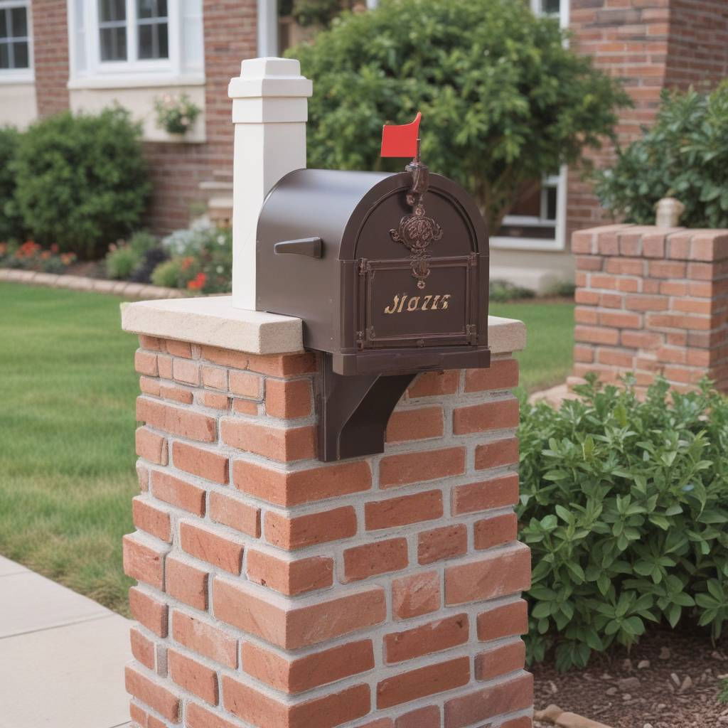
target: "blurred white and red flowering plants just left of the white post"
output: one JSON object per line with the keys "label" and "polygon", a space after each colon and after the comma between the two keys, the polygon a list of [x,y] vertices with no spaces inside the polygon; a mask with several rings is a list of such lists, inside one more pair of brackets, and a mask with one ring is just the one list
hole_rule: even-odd
{"label": "blurred white and red flowering plants just left of the white post", "polygon": [[195,223],[162,240],[170,260],[151,274],[154,285],[186,288],[195,293],[229,293],[232,277],[232,233],[210,223]]}

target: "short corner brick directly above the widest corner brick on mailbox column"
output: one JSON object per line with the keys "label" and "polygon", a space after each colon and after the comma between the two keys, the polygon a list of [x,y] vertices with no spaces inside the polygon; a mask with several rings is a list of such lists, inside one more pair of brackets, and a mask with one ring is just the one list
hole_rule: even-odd
{"label": "short corner brick directly above the widest corner brick on mailbox column", "polygon": [[286,596],[325,589],[333,584],[333,559],[311,556],[290,561],[248,549],[248,579]]}

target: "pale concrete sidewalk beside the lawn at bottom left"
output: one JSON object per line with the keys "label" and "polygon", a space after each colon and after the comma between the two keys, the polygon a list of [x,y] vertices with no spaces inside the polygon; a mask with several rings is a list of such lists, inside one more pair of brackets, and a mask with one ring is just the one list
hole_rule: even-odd
{"label": "pale concrete sidewalk beside the lawn at bottom left", "polygon": [[0,556],[0,728],[130,725],[129,620]]}

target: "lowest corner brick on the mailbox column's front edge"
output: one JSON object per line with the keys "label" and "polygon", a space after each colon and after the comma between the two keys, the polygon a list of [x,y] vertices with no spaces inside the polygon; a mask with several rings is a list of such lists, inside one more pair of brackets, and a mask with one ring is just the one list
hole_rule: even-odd
{"label": "lowest corner brick on the mailbox column's front edge", "polygon": [[223,697],[226,710],[265,728],[335,728],[365,716],[371,709],[368,685],[355,685],[306,703],[286,705],[225,676]]}

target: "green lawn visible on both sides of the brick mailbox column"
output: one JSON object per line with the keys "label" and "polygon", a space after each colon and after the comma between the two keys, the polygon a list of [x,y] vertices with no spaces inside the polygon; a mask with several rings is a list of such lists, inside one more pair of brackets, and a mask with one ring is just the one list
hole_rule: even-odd
{"label": "green lawn visible on both sides of the brick mailbox column", "polygon": [[[138,383],[119,302],[0,283],[0,553],[126,612]],[[527,389],[569,371],[573,308],[491,306],[526,322]]]}

